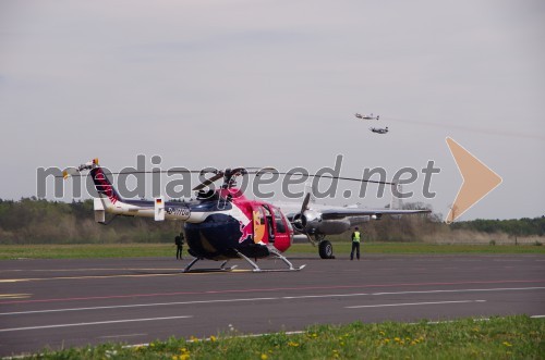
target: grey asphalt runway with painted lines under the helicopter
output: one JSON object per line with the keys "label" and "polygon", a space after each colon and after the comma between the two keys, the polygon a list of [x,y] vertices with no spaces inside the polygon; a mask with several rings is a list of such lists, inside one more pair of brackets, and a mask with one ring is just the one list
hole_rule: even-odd
{"label": "grey asphalt runway with painted lines under the helicopter", "polygon": [[[300,272],[181,274],[170,258],[0,261],[0,356],[356,320],[545,315],[545,257],[288,257]],[[242,261],[232,261],[246,269]],[[214,266],[204,261],[195,268]],[[281,269],[278,260],[261,260]]]}

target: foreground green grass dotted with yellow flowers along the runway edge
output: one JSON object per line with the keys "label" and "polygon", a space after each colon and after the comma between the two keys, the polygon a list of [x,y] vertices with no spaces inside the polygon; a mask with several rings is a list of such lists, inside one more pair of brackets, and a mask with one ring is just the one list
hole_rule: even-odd
{"label": "foreground green grass dotted with yellow flowers along the runway edge", "polygon": [[525,315],[417,324],[316,325],[302,334],[170,338],[44,351],[34,359],[543,359],[545,320]]}

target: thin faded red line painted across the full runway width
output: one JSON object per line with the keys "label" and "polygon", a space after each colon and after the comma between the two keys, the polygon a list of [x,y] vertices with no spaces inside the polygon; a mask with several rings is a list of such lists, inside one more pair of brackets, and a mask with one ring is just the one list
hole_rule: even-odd
{"label": "thin faded red line painted across the full runway width", "polygon": [[306,286],[306,287],[271,287],[271,288],[252,288],[252,289],[227,289],[227,290],[206,290],[206,291],[178,291],[178,293],[156,293],[156,294],[131,294],[131,295],[110,295],[110,296],[90,296],[78,298],[57,298],[41,300],[19,300],[0,301],[3,303],[33,303],[33,302],[56,302],[56,301],[83,301],[83,300],[105,300],[123,299],[154,296],[177,296],[177,295],[205,295],[205,294],[233,294],[233,293],[263,293],[263,291],[292,291],[292,290],[327,290],[344,288],[366,288],[366,287],[393,287],[393,286],[434,286],[434,285],[468,285],[468,284],[508,284],[508,283],[545,283],[545,280],[499,280],[487,282],[450,282],[450,283],[400,283],[400,284],[372,284],[372,285],[335,285],[335,286]]}

